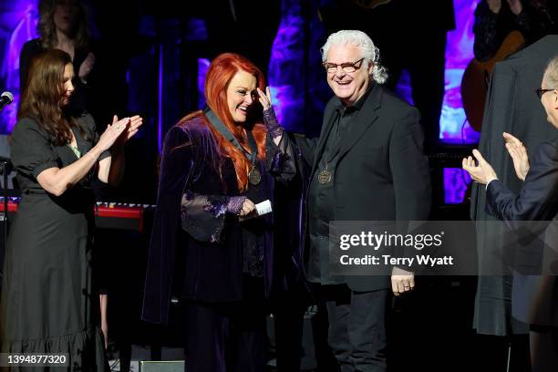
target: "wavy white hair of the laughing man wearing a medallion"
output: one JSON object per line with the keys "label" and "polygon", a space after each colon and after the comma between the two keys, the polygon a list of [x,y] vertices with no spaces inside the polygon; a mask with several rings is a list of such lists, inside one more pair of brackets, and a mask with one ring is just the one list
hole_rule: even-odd
{"label": "wavy white hair of the laughing man wearing a medallion", "polygon": [[339,44],[353,44],[356,47],[360,47],[362,57],[364,57],[367,61],[367,67],[370,66],[370,62],[374,64],[370,76],[378,84],[384,84],[386,82],[387,70],[386,67],[383,67],[380,64],[379,49],[374,45],[372,39],[367,36],[367,34],[358,30],[341,30],[331,34],[327,37],[324,47],[320,49],[322,52],[322,62],[325,62],[327,59],[327,52],[329,52],[329,48]]}

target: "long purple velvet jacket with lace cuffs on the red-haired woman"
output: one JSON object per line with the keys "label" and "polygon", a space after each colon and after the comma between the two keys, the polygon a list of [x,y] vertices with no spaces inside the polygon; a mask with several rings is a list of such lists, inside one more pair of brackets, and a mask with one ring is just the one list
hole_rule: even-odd
{"label": "long purple velvet jacket with lace cuffs on the red-haired woman", "polygon": [[[157,210],[150,241],[142,319],[166,324],[172,295],[204,302],[243,298],[243,223],[226,212],[240,195],[233,161],[222,158],[202,118],[167,133],[161,155]],[[273,202],[274,181],[294,177],[286,141],[266,145],[261,196]],[[222,174],[214,164],[222,163]],[[260,202],[260,201],[253,201]],[[269,294],[274,275],[272,213],[259,217],[263,237],[263,287]]]}

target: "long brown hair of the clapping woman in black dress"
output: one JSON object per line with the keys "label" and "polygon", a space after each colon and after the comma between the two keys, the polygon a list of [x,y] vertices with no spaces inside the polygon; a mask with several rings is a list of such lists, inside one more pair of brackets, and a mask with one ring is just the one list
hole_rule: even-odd
{"label": "long brown hair of the clapping woman in black dress", "polygon": [[78,122],[60,107],[65,94],[64,68],[71,64],[69,55],[59,49],[49,49],[33,58],[17,110],[17,119],[36,119],[57,146],[72,140],[71,127],[83,134]]}

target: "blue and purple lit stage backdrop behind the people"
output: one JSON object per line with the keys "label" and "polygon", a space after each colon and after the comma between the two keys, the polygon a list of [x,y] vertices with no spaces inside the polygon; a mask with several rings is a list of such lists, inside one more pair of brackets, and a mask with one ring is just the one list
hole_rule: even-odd
{"label": "blue and purple lit stage backdrop behind the people", "polygon": [[[95,2],[92,2],[95,5]],[[127,3],[132,3],[128,1]],[[184,65],[176,47],[184,40],[207,37],[203,22],[188,10],[154,15],[149,11],[149,2],[141,2],[138,27],[139,34],[146,36],[153,45],[146,48],[143,56],[135,57],[127,76],[129,83],[129,109],[146,108],[146,120],[160,140],[166,129],[180,119],[187,110],[202,107],[202,79],[209,64],[206,58],[198,59],[197,108],[184,104],[191,94],[191,87],[181,81]],[[464,68],[472,57],[473,11],[478,0],[454,0],[456,30],[449,32],[446,46],[446,94],[442,108],[440,139],[455,144],[475,143],[479,134],[470,129],[465,119],[460,99],[460,80]],[[310,132],[317,131],[321,123],[321,110],[329,98],[323,71],[319,68],[319,48],[324,42],[325,29],[317,18],[319,0],[282,0],[282,15],[279,31],[274,39],[269,65],[269,82],[279,119],[287,129]],[[167,7],[176,6],[169,5]],[[91,12],[94,32],[95,22]],[[9,134],[15,125],[15,112],[19,100],[19,53],[23,44],[36,37],[36,0],[11,0],[0,3],[0,89],[14,93],[15,102],[0,112],[0,133]],[[180,22],[169,18],[180,18]],[[186,20],[186,21],[184,21]],[[263,21],[264,23],[264,21]],[[186,25],[186,26],[184,26]],[[176,30],[181,27],[181,31]],[[176,34],[176,35],[175,35]],[[188,52],[188,51],[186,51]],[[146,73],[146,69],[150,72]],[[178,71],[177,71],[178,70]],[[148,81],[149,80],[149,81]],[[153,82],[156,83],[153,83]],[[140,88],[140,91],[138,91]],[[145,89],[148,88],[148,89]],[[132,91],[132,89],[134,89]],[[404,73],[398,85],[398,93],[410,99],[408,77]],[[411,102],[412,103],[412,102]],[[156,146],[159,147],[159,146]],[[446,202],[460,202],[469,180],[459,170],[446,171]]]}

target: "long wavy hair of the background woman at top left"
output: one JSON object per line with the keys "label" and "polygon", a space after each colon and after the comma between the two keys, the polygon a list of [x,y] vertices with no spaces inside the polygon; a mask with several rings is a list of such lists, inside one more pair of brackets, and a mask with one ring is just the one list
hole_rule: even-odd
{"label": "long wavy hair of the background woman at top left", "polygon": [[[73,19],[74,29],[71,38],[74,47],[87,49],[89,43],[88,8],[83,0],[69,0],[76,3],[76,15]],[[38,32],[41,46],[51,48],[57,44],[57,28],[54,23],[54,14],[57,10],[58,0],[39,0],[39,23]]]}

